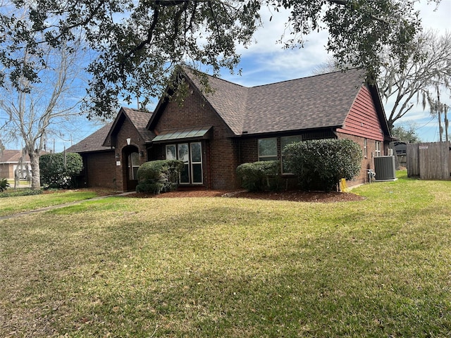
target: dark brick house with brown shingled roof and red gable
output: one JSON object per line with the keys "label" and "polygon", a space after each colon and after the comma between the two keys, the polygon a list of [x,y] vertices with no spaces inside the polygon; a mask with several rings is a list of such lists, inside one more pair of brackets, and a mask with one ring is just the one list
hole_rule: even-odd
{"label": "dark brick house with brown shingled roof and red gable", "polygon": [[[136,170],[146,161],[178,158],[185,162],[180,186],[235,189],[241,163],[280,159],[285,144],[309,139],[352,139],[362,147],[360,175],[368,180],[373,157],[388,153],[390,131],[376,85],[361,70],[243,87],[180,70],[187,96],[183,104],[167,89],[153,113],[121,108],[111,125],[70,147],[85,162],[87,187],[135,189]],[[281,173],[288,185],[295,177]]]}

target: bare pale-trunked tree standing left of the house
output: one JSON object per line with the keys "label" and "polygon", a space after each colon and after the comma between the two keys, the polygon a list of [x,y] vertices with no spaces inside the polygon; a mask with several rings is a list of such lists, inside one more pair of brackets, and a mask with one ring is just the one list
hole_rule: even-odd
{"label": "bare pale-trunked tree standing left of the house", "polygon": [[32,189],[40,188],[39,156],[45,149],[47,137],[66,130],[70,120],[80,115],[77,108],[82,98],[76,96],[81,82],[77,49],[80,49],[78,41],[66,42],[58,48],[47,46],[41,56],[44,62],[24,55],[24,63],[33,64],[35,68],[41,62],[40,82],[19,77],[20,86],[6,82],[1,89],[0,114],[8,119],[6,137],[23,142],[30,156]]}

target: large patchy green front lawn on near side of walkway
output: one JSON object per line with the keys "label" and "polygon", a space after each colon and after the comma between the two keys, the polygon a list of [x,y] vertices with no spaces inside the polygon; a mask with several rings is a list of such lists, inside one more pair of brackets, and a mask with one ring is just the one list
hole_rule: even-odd
{"label": "large patchy green front lawn on near side of walkway", "polygon": [[0,337],[450,337],[451,182],[353,192],[2,220]]}

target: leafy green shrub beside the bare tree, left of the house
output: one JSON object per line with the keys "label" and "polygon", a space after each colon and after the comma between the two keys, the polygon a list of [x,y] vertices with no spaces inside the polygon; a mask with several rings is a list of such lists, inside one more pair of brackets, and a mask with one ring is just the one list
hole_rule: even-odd
{"label": "leafy green shrub beside the bare tree, left of the house", "polygon": [[45,154],[39,157],[41,185],[45,189],[75,187],[75,175],[83,170],[83,160],[80,154],[64,153]]}

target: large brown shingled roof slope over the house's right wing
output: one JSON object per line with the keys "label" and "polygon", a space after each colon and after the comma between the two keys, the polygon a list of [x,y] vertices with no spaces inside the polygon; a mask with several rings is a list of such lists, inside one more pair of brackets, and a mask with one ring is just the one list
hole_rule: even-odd
{"label": "large brown shingled roof slope over the house's right wing", "polygon": [[204,97],[236,135],[340,127],[365,83],[357,69],[257,87],[207,77],[214,92]]}

